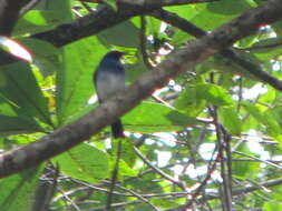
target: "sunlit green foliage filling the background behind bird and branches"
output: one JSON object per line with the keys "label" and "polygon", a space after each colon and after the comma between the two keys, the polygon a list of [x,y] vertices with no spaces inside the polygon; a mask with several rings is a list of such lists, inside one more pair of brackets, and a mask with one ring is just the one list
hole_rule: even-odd
{"label": "sunlit green foliage filling the background behind bird and branches", "polygon": [[[118,10],[114,0],[106,3]],[[223,0],[165,9],[211,31],[260,3]],[[45,0],[18,20],[10,41],[29,52],[32,61],[23,61],[22,53],[16,52],[22,61],[0,67],[2,150],[29,144],[96,107],[97,102],[90,100],[95,93],[93,72],[109,50],[127,52],[124,63],[130,84],[148,71],[144,59],[157,64],[172,50],[177,51],[194,39],[152,17],[145,18],[145,47],[139,41],[139,17],[61,48],[29,37],[88,12],[81,1]],[[281,79],[281,24],[262,27],[234,48],[246,60]],[[11,51],[7,42],[0,42],[2,50]],[[140,48],[145,48],[148,58]],[[123,117],[127,138],[123,140],[113,205],[127,211],[181,210],[192,191],[192,199],[197,201],[195,210],[221,210],[226,202],[220,193],[230,182],[235,210],[280,210],[281,182],[269,189],[261,183],[268,187],[270,181],[280,179],[281,102],[280,91],[220,56],[172,79]],[[48,171],[42,171],[45,163],[1,179],[0,187],[4,190],[0,193],[1,210],[30,210],[39,179],[57,181],[51,210],[103,210],[117,159],[117,142],[109,137],[107,128],[54,158],[48,168],[54,171],[58,167],[57,178],[48,178]],[[224,171],[223,165],[230,171]],[[202,189],[197,189],[200,184]],[[253,190],[247,191],[246,187]],[[200,190],[197,195],[193,194],[195,190]]]}

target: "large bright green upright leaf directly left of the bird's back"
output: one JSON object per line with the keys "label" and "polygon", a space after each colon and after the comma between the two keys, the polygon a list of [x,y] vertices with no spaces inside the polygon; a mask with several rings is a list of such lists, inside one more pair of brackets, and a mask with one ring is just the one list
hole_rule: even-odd
{"label": "large bright green upright leaf directly left of the bird's back", "polygon": [[57,114],[66,123],[79,113],[94,93],[93,74],[106,53],[96,38],[90,37],[62,48],[62,68],[57,76]]}

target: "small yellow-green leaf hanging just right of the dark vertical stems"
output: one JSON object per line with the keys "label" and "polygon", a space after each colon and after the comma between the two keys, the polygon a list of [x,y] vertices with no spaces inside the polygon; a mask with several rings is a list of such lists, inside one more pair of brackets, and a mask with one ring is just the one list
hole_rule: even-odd
{"label": "small yellow-green leaf hanging just right of the dark vertical stems", "polygon": [[240,134],[242,132],[242,120],[234,107],[221,107],[218,110],[221,123],[232,133]]}

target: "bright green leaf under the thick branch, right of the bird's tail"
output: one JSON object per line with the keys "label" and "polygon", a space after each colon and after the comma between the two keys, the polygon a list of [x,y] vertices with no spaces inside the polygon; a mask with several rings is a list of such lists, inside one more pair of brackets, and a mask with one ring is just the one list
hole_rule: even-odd
{"label": "bright green leaf under the thick branch, right of the bird's tail", "polygon": [[133,132],[164,132],[183,130],[195,119],[158,103],[143,102],[123,118],[126,130]]}

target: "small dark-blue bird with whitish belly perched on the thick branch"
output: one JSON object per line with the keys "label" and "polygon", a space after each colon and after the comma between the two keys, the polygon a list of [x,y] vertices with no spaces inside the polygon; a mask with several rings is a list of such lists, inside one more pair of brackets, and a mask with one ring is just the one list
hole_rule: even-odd
{"label": "small dark-blue bird with whitish belly perched on the thick branch", "polygon": [[[94,86],[99,103],[104,103],[125,89],[125,68],[120,61],[124,52],[113,50],[104,56],[94,73]],[[114,138],[124,137],[124,127],[120,119],[111,125]]]}

